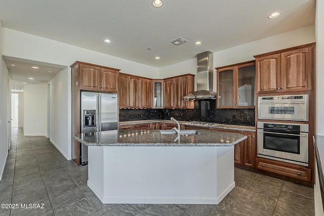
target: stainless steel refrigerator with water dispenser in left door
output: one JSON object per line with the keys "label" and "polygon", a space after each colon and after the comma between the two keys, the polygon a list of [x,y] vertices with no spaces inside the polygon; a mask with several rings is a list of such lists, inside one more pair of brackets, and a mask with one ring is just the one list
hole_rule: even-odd
{"label": "stainless steel refrigerator with water dispenser in left door", "polygon": [[[110,131],[118,127],[117,94],[81,92],[80,96],[81,133]],[[88,147],[80,144],[81,164],[88,163]]]}

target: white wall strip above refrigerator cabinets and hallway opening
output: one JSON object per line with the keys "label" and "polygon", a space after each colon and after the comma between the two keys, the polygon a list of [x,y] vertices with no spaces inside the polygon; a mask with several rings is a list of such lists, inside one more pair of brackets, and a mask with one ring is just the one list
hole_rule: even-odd
{"label": "white wall strip above refrigerator cabinets and hallway opening", "polygon": [[64,66],[70,66],[75,61],[83,61],[118,68],[123,73],[158,78],[158,69],[148,65],[8,28],[2,29],[2,36],[4,56]]}

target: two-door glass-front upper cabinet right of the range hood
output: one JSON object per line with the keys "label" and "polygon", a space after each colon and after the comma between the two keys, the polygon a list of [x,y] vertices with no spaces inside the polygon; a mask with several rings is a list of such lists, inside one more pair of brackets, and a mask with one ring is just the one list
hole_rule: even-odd
{"label": "two-door glass-front upper cabinet right of the range hood", "polygon": [[255,108],[255,61],[217,69],[217,108]]}

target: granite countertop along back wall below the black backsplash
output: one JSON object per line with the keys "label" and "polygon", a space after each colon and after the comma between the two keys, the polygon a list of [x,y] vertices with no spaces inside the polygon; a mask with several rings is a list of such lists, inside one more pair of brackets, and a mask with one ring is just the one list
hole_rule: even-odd
{"label": "granite countertop along back wall below the black backsplash", "polygon": [[[171,120],[157,119],[157,120],[121,121],[119,122],[119,125],[130,125],[130,124],[140,124],[140,123],[176,123],[176,122]],[[219,128],[219,129],[231,129],[234,131],[256,132],[255,126],[221,124],[221,123],[213,123],[212,125],[203,125],[203,124],[194,124],[191,121],[179,121],[179,123],[183,125],[191,125],[191,126],[199,126],[199,127],[207,127],[207,128]]]}

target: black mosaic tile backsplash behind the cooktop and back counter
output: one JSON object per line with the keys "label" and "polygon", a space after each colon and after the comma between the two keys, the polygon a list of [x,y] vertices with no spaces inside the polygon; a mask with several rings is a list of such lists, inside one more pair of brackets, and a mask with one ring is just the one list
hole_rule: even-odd
{"label": "black mosaic tile backsplash behind the cooktop and back counter", "polygon": [[255,126],[254,109],[216,109],[216,100],[195,100],[194,109],[119,109],[119,121],[170,119]]}

